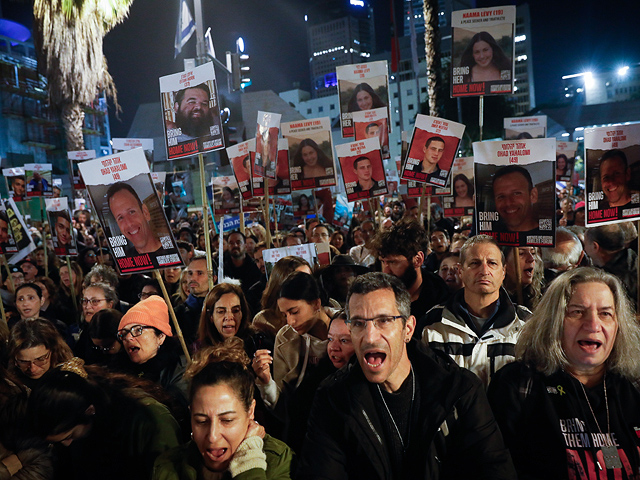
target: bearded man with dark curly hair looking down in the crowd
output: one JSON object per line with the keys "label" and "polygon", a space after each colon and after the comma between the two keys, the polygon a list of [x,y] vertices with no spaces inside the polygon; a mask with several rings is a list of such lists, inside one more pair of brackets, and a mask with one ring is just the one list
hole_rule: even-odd
{"label": "bearded man with dark curly hair looking down in the crowd", "polygon": [[372,245],[381,270],[404,283],[411,295],[411,315],[416,318],[449,298],[444,280],[422,267],[428,243],[427,232],[418,222],[402,219],[378,232]]}

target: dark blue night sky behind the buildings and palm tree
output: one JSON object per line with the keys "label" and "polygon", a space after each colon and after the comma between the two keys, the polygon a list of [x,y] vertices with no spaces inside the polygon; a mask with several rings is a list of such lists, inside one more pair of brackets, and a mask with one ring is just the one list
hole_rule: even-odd
{"label": "dark blue night sky behind the buildings and palm tree", "polygon": [[[345,0],[346,1],[346,0]],[[389,45],[388,0],[373,0],[377,43]],[[203,0],[204,24],[211,27],[218,59],[242,36],[251,55],[251,91],[309,88],[303,0]],[[510,2],[478,1],[478,6]],[[519,2],[516,2],[519,3]],[[538,104],[562,98],[561,77],[594,66],[640,62],[640,2],[637,0],[534,0],[534,77]],[[20,7],[2,0],[6,18],[27,23]],[[24,7],[23,7],[24,8]],[[195,56],[195,35],[177,59],[173,42],[177,0],[135,0],[129,19],[105,38],[104,51],[123,108],[111,117],[112,136],[126,136],[137,106],[159,101],[158,77],[182,70],[185,53]],[[401,29],[401,27],[399,27]]]}

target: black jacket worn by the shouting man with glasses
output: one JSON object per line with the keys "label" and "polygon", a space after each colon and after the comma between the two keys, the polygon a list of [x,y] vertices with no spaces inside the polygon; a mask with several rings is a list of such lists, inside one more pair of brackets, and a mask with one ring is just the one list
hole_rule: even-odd
{"label": "black jacket worn by the shouting man with glasses", "polygon": [[[477,377],[415,341],[408,351],[421,405],[406,454],[407,478],[515,479]],[[351,363],[316,393],[298,478],[391,479],[382,432],[370,384],[360,365]]]}

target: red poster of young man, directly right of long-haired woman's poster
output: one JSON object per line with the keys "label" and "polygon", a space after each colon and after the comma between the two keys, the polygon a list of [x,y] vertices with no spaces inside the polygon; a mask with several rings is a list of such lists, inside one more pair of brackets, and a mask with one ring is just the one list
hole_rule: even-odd
{"label": "red poster of young man, directly right of long-haired woman's poster", "polygon": [[336,155],[349,202],[386,195],[389,191],[377,137],[338,145]]}

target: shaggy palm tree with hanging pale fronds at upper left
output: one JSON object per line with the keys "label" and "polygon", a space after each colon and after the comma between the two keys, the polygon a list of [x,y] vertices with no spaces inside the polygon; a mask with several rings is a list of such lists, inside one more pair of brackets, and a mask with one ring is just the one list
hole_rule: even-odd
{"label": "shaggy palm tree with hanging pale fronds at upper left", "polygon": [[118,98],[107,71],[102,39],[129,13],[133,0],[34,0],[38,67],[51,104],[61,111],[67,150],[84,150],[85,106],[100,92]]}

